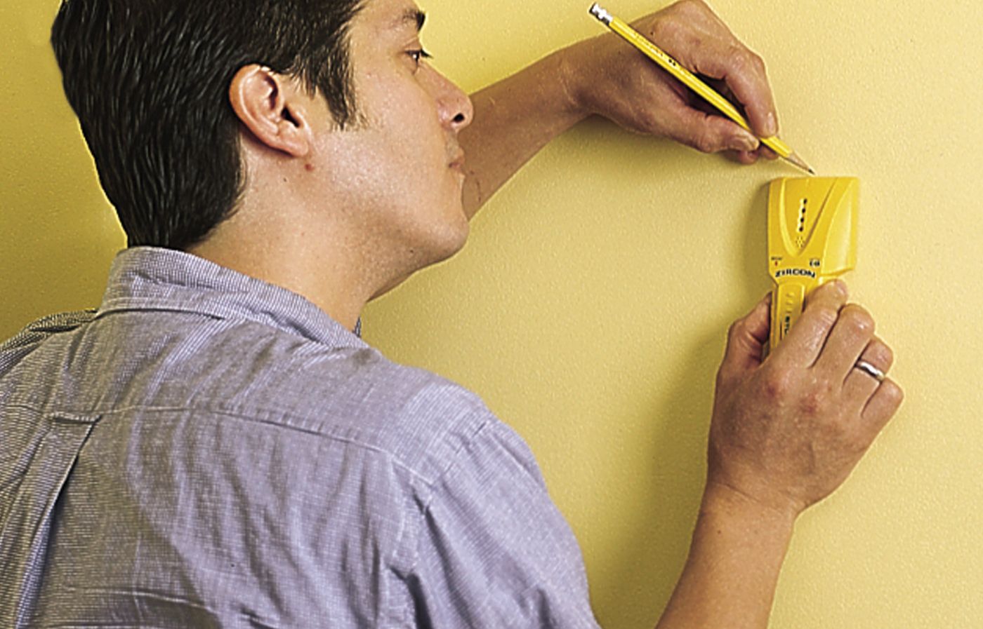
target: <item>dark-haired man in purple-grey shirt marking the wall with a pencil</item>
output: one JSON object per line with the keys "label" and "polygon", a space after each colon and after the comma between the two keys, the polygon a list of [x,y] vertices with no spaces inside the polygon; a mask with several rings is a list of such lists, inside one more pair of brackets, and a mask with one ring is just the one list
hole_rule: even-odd
{"label": "dark-haired man in purple-grey shirt marking the wall with a pencil", "polygon": [[[359,314],[588,115],[774,155],[609,35],[472,101],[425,62],[412,0],[218,4],[56,20],[131,248],[97,311],[0,347],[0,625],[595,627],[528,447],[369,347]],[[636,26],[777,131],[763,65],[705,4]],[[661,628],[764,627],[795,518],[896,412],[854,368],[893,357],[846,298],[817,290],[764,361],[767,298],[731,328]]]}

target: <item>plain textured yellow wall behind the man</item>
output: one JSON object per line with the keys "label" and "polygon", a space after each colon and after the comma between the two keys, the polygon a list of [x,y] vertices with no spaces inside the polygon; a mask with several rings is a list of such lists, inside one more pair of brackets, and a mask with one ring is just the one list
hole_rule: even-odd
{"label": "plain textured yellow wall behind the man", "polygon": [[[469,91],[600,32],[588,0],[420,4],[436,66]],[[97,304],[123,242],[47,48],[55,6],[0,5],[0,336]],[[773,626],[983,626],[983,5],[714,6],[768,62],[783,138],[862,182],[848,279],[907,393],[799,521]],[[590,121],[492,200],[461,254],[365,313],[368,341],[527,439],[611,629],[653,625],[682,567],[724,331],[769,288],[764,191],[782,176]]]}

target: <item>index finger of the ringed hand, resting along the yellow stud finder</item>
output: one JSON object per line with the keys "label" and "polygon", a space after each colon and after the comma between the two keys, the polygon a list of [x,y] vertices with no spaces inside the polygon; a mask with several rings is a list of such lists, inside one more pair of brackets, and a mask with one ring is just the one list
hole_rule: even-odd
{"label": "index finger of the ringed hand, resting along the yellow stud finder", "polygon": [[839,280],[813,290],[806,298],[802,315],[775,348],[774,360],[811,367],[822,353],[848,296],[846,285]]}

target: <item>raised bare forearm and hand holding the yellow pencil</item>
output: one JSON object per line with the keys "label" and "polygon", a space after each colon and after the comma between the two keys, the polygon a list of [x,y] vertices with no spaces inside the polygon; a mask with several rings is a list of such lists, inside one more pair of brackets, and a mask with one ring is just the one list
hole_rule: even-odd
{"label": "raised bare forearm and hand holding the yellow pencil", "polygon": [[[633,26],[689,70],[717,79],[759,135],[778,132],[763,62],[702,0],[682,0]],[[613,33],[554,52],[471,98],[474,121],[459,137],[468,219],[549,140],[594,114],[705,153],[735,151],[745,164],[777,157]]]}

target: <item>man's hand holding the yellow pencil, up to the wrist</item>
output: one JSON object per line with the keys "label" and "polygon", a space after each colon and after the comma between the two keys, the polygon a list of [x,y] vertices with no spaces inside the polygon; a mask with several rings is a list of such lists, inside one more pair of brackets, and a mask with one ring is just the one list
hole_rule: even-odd
{"label": "man's hand holding the yellow pencil, up to the wrist", "polygon": [[[761,57],[703,0],[680,0],[633,26],[741,110],[759,137],[778,134],[775,99]],[[669,137],[705,153],[729,151],[743,164],[778,155],[618,35],[575,44],[567,55],[571,98],[637,133]]]}

